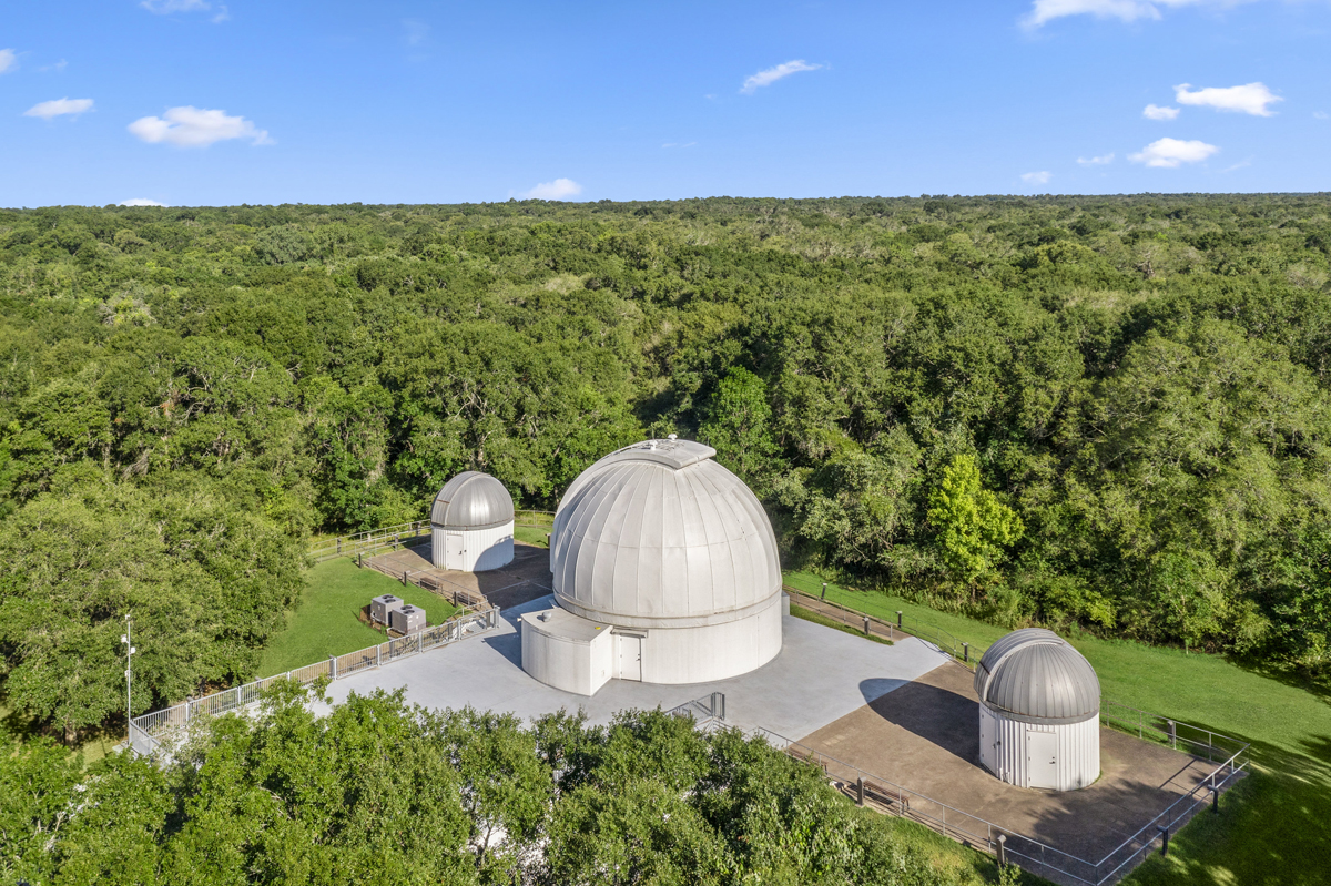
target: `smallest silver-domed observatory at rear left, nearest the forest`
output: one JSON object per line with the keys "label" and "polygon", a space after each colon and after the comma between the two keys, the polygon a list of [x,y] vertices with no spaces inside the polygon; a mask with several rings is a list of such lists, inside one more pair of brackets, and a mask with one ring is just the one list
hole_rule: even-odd
{"label": "smallest silver-domed observatory at rear left, nearest the forest", "polygon": [[503,483],[466,471],[430,508],[430,560],[441,569],[484,572],[512,563],[512,496]]}

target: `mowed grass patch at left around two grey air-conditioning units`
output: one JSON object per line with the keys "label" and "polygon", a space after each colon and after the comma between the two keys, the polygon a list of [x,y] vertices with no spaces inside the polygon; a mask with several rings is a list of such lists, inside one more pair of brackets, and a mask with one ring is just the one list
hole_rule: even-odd
{"label": "mowed grass patch at left around two grey air-conditioning units", "polygon": [[403,585],[355,561],[338,557],[305,573],[305,591],[287,612],[286,629],[264,649],[260,676],[272,677],[329,656],[339,656],[383,643],[386,636],[358,619],[373,597],[391,593],[426,612],[430,624],[446,621],[457,608],[415,585]]}

